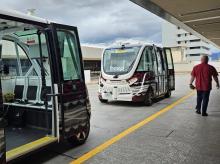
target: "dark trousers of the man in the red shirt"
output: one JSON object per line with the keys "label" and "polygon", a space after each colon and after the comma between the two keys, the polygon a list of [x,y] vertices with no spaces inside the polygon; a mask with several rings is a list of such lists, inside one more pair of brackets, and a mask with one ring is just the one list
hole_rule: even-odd
{"label": "dark trousers of the man in the red shirt", "polygon": [[210,95],[210,91],[197,90],[197,105],[196,105],[197,111],[201,111],[202,108],[202,113],[206,113],[209,103],[209,95]]}

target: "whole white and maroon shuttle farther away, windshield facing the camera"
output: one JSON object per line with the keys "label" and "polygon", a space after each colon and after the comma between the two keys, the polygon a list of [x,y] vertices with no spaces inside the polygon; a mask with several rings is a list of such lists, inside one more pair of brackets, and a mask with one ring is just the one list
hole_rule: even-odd
{"label": "whole white and maroon shuttle farther away, windshield facing the camera", "polygon": [[124,44],[106,48],[101,60],[98,97],[101,102],[133,101],[152,105],[175,89],[170,48]]}

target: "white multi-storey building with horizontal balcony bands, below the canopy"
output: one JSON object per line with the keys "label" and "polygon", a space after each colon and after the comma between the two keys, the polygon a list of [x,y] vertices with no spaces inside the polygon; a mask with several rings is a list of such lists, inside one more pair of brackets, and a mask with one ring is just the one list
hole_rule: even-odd
{"label": "white multi-storey building with horizontal balcony bands, below the canopy", "polygon": [[201,55],[210,55],[209,43],[169,22],[162,24],[162,44],[165,47],[181,47],[183,61],[198,61]]}

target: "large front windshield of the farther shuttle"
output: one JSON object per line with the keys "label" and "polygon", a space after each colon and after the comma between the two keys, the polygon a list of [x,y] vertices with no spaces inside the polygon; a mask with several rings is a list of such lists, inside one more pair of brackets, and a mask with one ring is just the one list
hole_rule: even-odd
{"label": "large front windshield of the farther shuttle", "polygon": [[103,70],[106,74],[128,73],[137,58],[141,46],[106,49],[103,56]]}

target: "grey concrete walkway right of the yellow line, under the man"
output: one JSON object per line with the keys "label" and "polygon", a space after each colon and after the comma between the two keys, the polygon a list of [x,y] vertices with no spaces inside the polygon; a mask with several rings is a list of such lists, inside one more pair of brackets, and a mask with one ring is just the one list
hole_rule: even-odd
{"label": "grey concrete walkway right of the yellow line, under the man", "polygon": [[219,96],[219,91],[214,90],[208,117],[195,114],[194,96],[86,163],[219,164]]}

